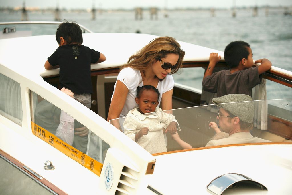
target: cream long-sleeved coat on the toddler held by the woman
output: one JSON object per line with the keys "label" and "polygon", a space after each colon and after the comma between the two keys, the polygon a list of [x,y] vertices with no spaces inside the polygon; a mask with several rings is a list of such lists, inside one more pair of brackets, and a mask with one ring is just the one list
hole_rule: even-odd
{"label": "cream long-sleeved coat on the toddler held by the woman", "polygon": [[[159,107],[151,114],[141,114],[135,108],[130,110],[125,118],[124,133],[135,141],[135,134],[143,127],[148,127],[148,134],[143,135],[137,143],[151,154],[166,152],[162,128],[166,129],[172,121],[178,124],[172,114],[163,112]],[[180,131],[179,126],[177,130]]]}

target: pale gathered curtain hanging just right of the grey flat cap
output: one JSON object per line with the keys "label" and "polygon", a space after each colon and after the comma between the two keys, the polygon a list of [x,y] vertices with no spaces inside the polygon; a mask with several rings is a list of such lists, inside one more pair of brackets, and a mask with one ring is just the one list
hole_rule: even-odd
{"label": "pale gathered curtain hanging just right of the grey flat cap", "polygon": [[[267,99],[267,80],[262,79],[259,85],[253,88],[253,100],[266,100]],[[267,130],[268,129],[268,103],[267,101],[255,101],[255,112],[253,116],[253,126],[258,129]]]}

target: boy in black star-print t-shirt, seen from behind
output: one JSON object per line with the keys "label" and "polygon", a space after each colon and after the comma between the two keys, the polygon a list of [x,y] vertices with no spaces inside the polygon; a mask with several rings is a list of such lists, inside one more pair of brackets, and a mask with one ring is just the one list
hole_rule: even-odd
{"label": "boy in black star-print t-shirt, seen from behind", "polygon": [[60,67],[60,88],[68,88],[74,99],[90,109],[91,107],[91,63],[105,61],[105,56],[81,45],[82,30],[77,23],[61,23],[56,32],[58,49],[48,57],[45,69]]}

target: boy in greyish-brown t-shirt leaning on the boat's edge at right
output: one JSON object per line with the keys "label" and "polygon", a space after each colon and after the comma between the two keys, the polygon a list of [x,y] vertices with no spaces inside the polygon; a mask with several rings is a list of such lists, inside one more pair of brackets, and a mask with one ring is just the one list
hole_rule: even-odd
{"label": "boy in greyish-brown t-shirt leaning on the boat's edge at right", "polygon": [[224,58],[230,70],[213,73],[221,56],[218,56],[218,53],[211,53],[210,63],[203,78],[203,89],[217,93],[218,97],[234,93],[251,96],[252,88],[261,82],[261,74],[272,66],[272,63],[264,58],[256,60],[255,63],[261,65],[252,68],[253,54],[249,44],[243,41],[228,44],[225,47]]}

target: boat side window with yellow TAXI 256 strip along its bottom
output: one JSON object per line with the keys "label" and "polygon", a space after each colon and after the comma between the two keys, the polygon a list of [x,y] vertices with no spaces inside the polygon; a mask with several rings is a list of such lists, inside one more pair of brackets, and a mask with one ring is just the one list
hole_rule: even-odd
{"label": "boat side window with yellow TAXI 256 strip along its bottom", "polygon": [[110,146],[86,126],[40,95],[31,91],[30,100],[32,133],[100,175],[102,163]]}

